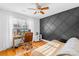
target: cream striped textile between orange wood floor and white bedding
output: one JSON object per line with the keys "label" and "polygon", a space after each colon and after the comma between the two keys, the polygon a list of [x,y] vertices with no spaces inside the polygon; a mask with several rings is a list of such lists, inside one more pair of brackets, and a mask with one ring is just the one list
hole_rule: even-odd
{"label": "cream striped textile between orange wood floor and white bedding", "polygon": [[52,56],[55,54],[57,49],[61,46],[57,41],[51,41],[47,44],[32,51],[33,56]]}

